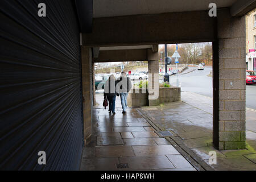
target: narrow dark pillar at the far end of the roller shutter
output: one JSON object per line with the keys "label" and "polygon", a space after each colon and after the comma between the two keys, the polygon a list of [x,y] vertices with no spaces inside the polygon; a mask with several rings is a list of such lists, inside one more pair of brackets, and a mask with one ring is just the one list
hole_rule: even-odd
{"label": "narrow dark pillar at the far end of the roller shutter", "polygon": [[81,47],[81,61],[84,142],[86,144],[92,135],[92,50],[90,48]]}

